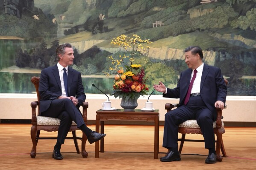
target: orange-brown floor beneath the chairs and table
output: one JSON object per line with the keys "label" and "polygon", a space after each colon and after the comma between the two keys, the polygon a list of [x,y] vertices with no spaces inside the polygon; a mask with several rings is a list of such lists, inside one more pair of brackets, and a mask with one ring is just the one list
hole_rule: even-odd
{"label": "orange-brown floor beneath the chairs and table", "polygon": [[[224,146],[229,157],[216,164],[205,164],[208,150],[202,142],[185,142],[181,161],[161,162],[153,159],[154,127],[138,125],[106,125],[105,153],[95,158],[95,144],[86,144],[88,158],[75,153],[74,142],[66,140],[62,145],[63,160],[51,157],[55,140],[38,142],[37,155],[30,158],[32,142],[30,124],[0,124],[0,169],[1,170],[255,170],[256,128],[225,128]],[[95,125],[89,125],[95,130]],[[162,147],[163,126],[160,126],[159,154],[165,155]],[[41,132],[41,136],[56,136],[57,133]],[[77,131],[77,135],[82,133]],[[71,134],[68,134],[71,135]],[[202,135],[188,135],[201,139]],[[81,142],[79,141],[79,145]],[[198,155],[193,155],[198,154]]]}

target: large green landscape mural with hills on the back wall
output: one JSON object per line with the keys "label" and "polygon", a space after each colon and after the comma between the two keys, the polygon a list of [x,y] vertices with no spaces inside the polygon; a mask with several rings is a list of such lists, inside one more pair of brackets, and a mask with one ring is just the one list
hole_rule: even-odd
{"label": "large green landscape mural with hills on the back wall", "polygon": [[121,34],[153,42],[150,92],[159,81],[175,87],[183,50],[197,45],[204,63],[221,68],[228,95],[256,95],[256,0],[0,0],[0,93],[34,93],[30,78],[71,43],[85,93],[100,94],[95,84],[110,94],[113,76],[103,72],[109,56],[126,54],[110,43]]}

